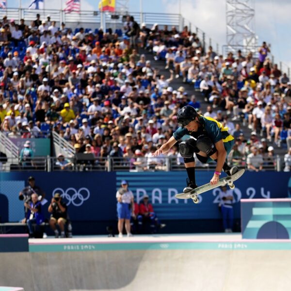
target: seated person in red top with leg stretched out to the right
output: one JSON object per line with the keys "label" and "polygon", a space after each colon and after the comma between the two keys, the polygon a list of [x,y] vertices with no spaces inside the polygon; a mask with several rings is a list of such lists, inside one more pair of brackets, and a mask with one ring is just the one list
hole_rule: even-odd
{"label": "seated person in red top with leg stretched out to the right", "polygon": [[142,202],[139,205],[140,215],[137,216],[139,230],[141,230],[142,226],[145,222],[150,223],[150,232],[157,233],[159,228],[163,228],[166,225],[161,224],[156,213],[154,212],[153,206],[148,203],[148,195],[144,195],[142,198]]}

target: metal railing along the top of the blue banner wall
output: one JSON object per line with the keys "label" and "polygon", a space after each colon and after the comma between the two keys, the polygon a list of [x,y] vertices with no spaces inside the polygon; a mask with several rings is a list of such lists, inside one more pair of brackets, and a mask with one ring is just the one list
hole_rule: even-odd
{"label": "metal railing along the top of the blue banner wall", "polygon": [[[202,171],[212,171],[216,162],[202,164],[197,159],[196,168]],[[233,157],[233,163],[239,168],[247,169],[246,159]],[[263,157],[263,171],[282,171],[284,161],[279,156]],[[106,171],[106,172],[155,172],[155,171],[184,171],[184,161],[181,156],[167,157],[95,157],[93,154],[80,153],[72,157],[34,157],[34,158],[0,158],[0,171]]]}

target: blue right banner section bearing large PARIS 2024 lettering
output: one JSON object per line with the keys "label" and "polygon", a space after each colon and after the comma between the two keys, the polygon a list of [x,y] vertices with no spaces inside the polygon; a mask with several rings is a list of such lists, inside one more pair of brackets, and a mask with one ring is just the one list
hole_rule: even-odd
{"label": "blue right banner section bearing large PARIS 2024 lettering", "polygon": [[[196,171],[196,183],[210,182],[212,172]],[[154,210],[161,219],[221,219],[218,209],[220,188],[199,195],[199,204],[191,199],[177,199],[186,186],[187,173],[181,172],[117,172],[116,188],[121,180],[129,182],[137,202],[144,194],[149,196]],[[245,172],[234,182],[234,214],[240,218],[240,199],[282,198],[288,196],[290,173],[285,172]],[[278,182],[276,182],[278,181]],[[291,183],[291,182],[290,182]]]}

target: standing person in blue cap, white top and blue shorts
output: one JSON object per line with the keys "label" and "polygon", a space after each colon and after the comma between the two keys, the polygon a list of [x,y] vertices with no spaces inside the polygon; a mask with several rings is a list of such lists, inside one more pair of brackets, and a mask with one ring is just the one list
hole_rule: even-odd
{"label": "standing person in blue cap, white top and blue shorts", "polygon": [[117,199],[117,215],[118,215],[118,237],[123,237],[123,225],[125,222],[125,229],[127,236],[130,237],[130,216],[134,216],[134,201],[133,194],[128,189],[129,185],[126,180],[121,181],[121,188],[116,193]]}

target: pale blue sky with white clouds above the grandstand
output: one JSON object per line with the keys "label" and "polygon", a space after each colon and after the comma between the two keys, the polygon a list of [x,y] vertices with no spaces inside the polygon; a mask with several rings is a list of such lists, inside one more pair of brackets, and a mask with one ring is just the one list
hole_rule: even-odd
{"label": "pale blue sky with white clouds above the grandstand", "polygon": [[[61,0],[45,0],[46,8],[57,9]],[[118,1],[118,0],[116,0]],[[255,5],[255,29],[259,44],[265,40],[271,44],[275,62],[282,61],[291,67],[291,0],[249,0]],[[22,7],[28,7],[31,0],[22,0]],[[62,0],[65,3],[65,0]],[[98,0],[81,0],[82,10],[97,10]],[[178,13],[179,0],[129,0],[129,11],[151,13]],[[226,43],[226,1],[225,0],[181,0],[181,13],[193,26],[199,27],[211,37],[212,44]],[[8,0],[9,7],[19,6],[17,0]],[[65,4],[63,4],[63,7]]]}

